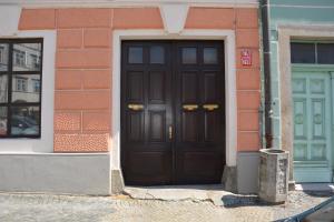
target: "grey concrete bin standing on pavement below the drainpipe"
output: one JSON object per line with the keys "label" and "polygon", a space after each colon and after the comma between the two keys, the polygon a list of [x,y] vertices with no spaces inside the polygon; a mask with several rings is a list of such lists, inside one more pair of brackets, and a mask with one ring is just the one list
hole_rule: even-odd
{"label": "grey concrete bin standing on pavement below the drainpipe", "polygon": [[288,152],[277,149],[259,151],[259,192],[261,200],[283,203],[288,191]]}

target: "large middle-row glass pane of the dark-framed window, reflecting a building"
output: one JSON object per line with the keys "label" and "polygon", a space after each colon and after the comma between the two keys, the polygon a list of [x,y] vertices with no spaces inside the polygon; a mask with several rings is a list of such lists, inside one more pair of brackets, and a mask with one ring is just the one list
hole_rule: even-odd
{"label": "large middle-row glass pane of the dark-framed window, reflecting a building", "polygon": [[39,74],[14,74],[12,78],[13,103],[39,102],[40,98],[40,75]]}

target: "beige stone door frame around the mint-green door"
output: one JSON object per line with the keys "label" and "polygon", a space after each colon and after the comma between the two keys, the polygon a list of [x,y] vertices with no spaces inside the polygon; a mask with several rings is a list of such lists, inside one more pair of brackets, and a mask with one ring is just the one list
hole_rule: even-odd
{"label": "beige stone door frame around the mint-green door", "polygon": [[291,41],[334,40],[334,28],[330,26],[282,24],[278,26],[278,70],[279,70],[279,101],[281,101],[281,138],[279,149],[289,151],[289,183],[294,184],[294,135],[293,135],[293,98],[292,98],[292,63]]}

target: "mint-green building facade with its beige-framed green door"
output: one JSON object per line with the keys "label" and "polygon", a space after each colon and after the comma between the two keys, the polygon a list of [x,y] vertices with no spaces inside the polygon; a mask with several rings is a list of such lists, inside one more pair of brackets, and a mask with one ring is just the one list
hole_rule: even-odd
{"label": "mint-green building facade with its beige-framed green door", "polygon": [[274,145],[296,182],[333,181],[333,14],[331,0],[269,4]]}

